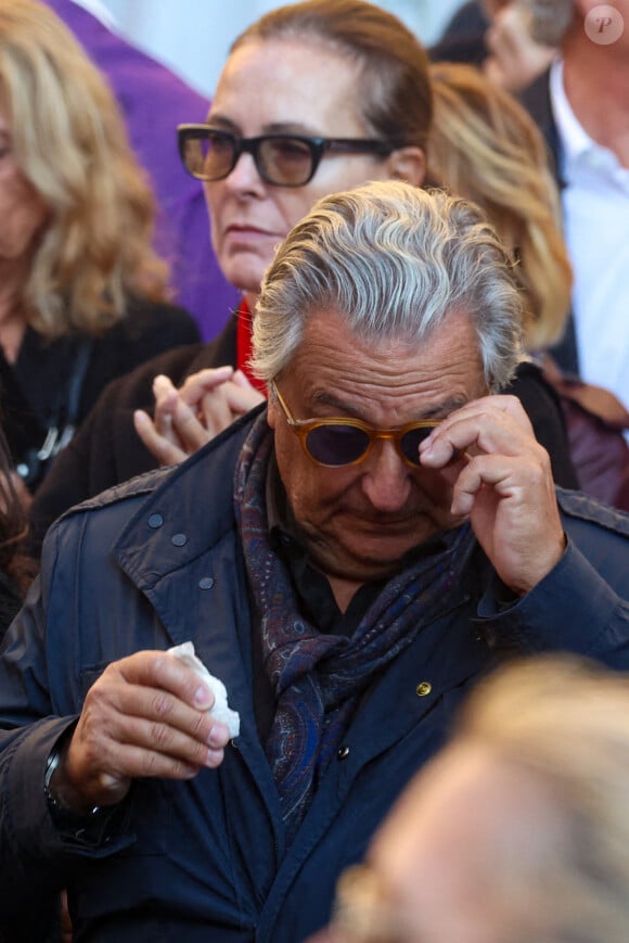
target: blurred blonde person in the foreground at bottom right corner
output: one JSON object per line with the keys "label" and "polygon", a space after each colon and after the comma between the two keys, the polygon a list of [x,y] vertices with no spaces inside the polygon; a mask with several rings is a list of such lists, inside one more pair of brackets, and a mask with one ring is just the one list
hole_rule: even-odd
{"label": "blurred blonde person in the foreground at bottom right corner", "polygon": [[629,677],[567,655],[482,683],[309,943],[626,943]]}

